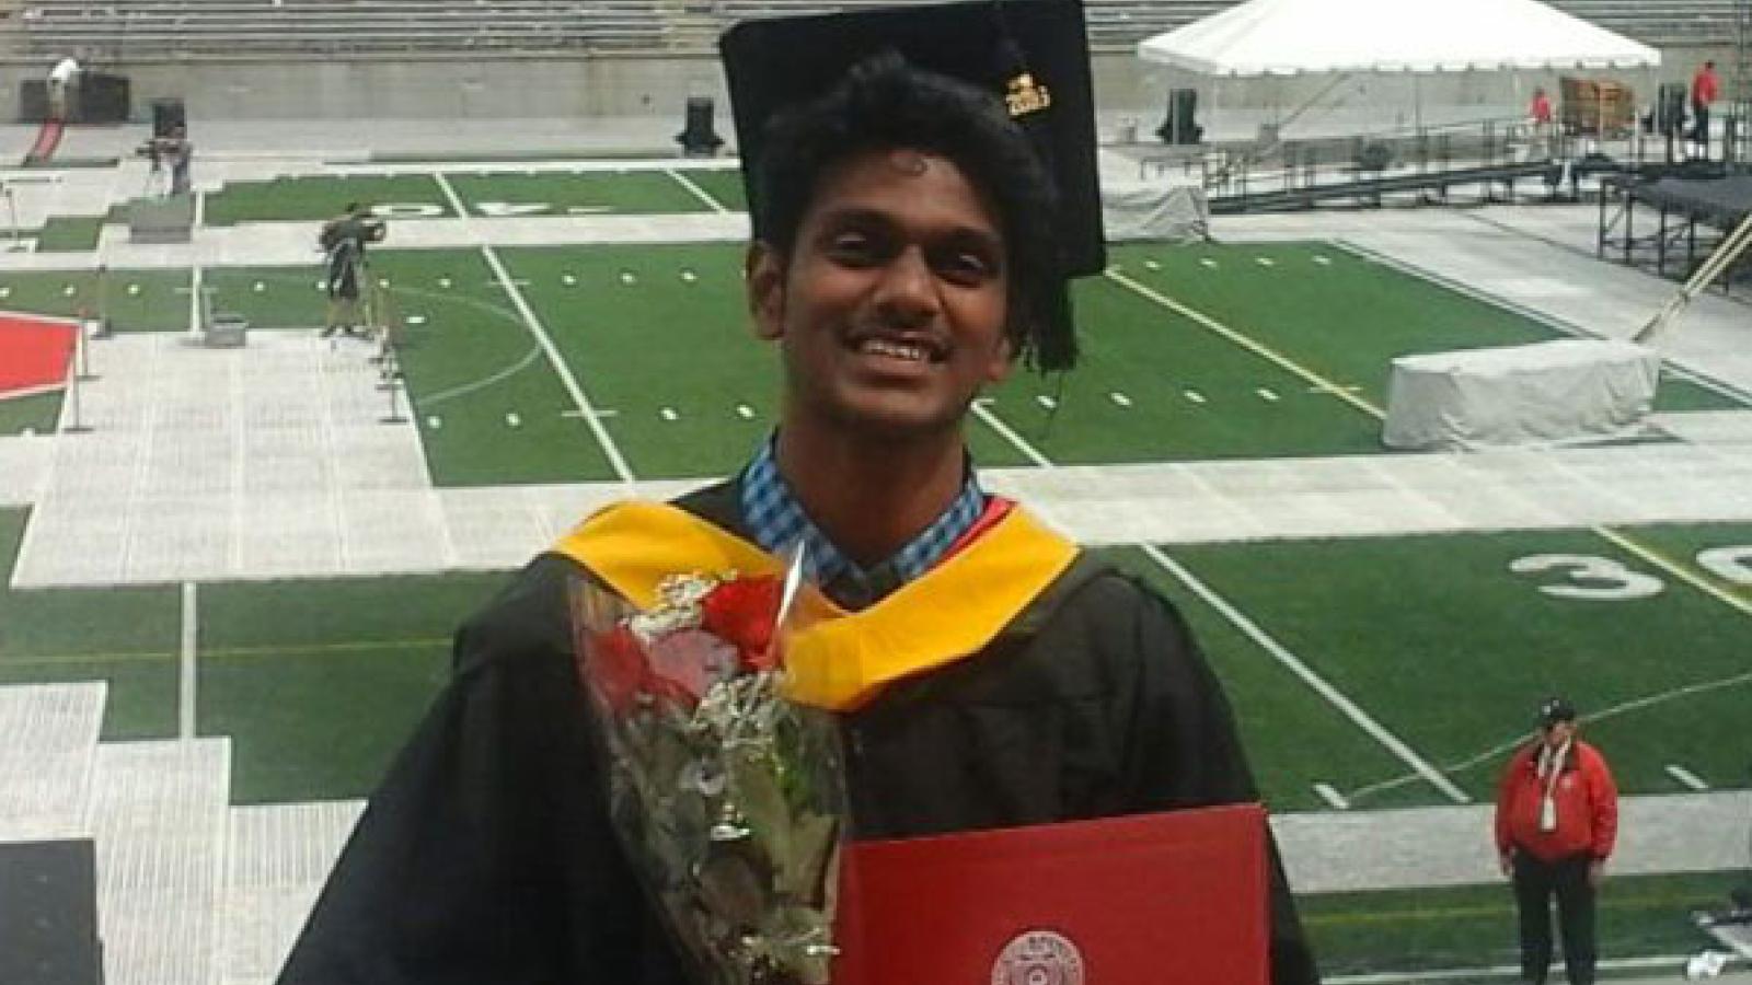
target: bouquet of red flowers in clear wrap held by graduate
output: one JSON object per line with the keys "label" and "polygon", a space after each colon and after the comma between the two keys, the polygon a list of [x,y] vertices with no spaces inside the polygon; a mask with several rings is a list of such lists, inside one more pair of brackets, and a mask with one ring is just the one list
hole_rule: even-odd
{"label": "bouquet of red flowers in clear wrap held by graduate", "polygon": [[680,573],[638,612],[578,582],[578,671],[615,829],[682,943],[724,985],[825,985],[846,817],[837,724],[783,696],[801,580]]}

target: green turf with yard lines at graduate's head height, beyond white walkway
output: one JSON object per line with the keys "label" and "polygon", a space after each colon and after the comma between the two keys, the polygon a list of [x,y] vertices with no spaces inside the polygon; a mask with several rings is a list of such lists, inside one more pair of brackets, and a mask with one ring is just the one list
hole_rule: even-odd
{"label": "green turf with yard lines at graduate's head height, beyond white walkway", "polygon": [[[682,193],[661,174],[634,177]],[[371,258],[406,324],[408,380],[440,485],[608,478],[611,454],[638,477],[717,475],[771,426],[776,354],[748,337],[738,245],[517,247],[499,258],[510,286],[478,251]],[[1120,247],[1114,270],[1077,286],[1076,373],[1018,372],[983,398],[971,428],[983,464],[1372,454],[1395,356],[1556,337],[1321,244]],[[124,331],[182,330],[187,282],[182,272],[112,270],[100,298],[86,272],[9,273],[0,301],[105,308]],[[256,328],[319,326],[319,282],[317,263],[203,272],[215,310]],[[1740,401],[1670,377],[1657,407]],[[35,410],[11,415],[40,421]]]}

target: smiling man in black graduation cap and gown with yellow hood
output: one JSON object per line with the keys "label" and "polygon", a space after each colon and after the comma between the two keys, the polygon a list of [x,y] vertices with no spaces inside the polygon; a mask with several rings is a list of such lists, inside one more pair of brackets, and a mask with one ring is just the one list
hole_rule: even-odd
{"label": "smiling man in black graduation cap and gown with yellow hood", "polygon": [[[1021,39],[1034,72],[1013,65],[1007,89],[909,61],[950,46],[990,84],[999,56],[1023,56],[993,39],[1044,9],[1074,19]],[[748,307],[780,351],[778,431],[729,482],[597,514],[464,626],[454,682],[373,797],[282,985],[708,980],[615,838],[571,654],[578,578],[618,587],[808,543],[811,577],[848,624],[872,627],[858,640],[913,661],[850,675],[825,705],[841,715],[858,840],[1256,799],[1228,705],[1172,606],[988,496],[969,464],[972,398],[1016,361],[1074,361],[1065,273],[1100,266],[1081,9],[1002,14],[799,21],[876,25],[904,35],[904,58],[788,28],[727,39],[753,170]],[[1042,37],[1072,46],[1081,82],[1049,70],[1063,58],[1039,54]],[[764,103],[778,75],[792,95]],[[1083,112],[1039,117],[1048,102]],[[1067,174],[1084,181],[1065,186]],[[1062,202],[1083,212],[1060,216]],[[965,577],[997,556],[1000,577]],[[950,620],[962,638],[901,615],[922,608],[969,612]],[[1314,981],[1275,866],[1272,904],[1274,980]]]}

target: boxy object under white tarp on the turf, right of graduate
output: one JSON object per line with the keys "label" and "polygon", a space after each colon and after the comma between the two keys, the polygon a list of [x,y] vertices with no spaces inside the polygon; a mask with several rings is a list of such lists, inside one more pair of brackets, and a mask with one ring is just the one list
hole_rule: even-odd
{"label": "boxy object under white tarp on the turf, right of graduate", "polygon": [[1381,440],[1452,450],[1621,435],[1649,417],[1659,377],[1659,352],[1615,340],[1400,356]]}

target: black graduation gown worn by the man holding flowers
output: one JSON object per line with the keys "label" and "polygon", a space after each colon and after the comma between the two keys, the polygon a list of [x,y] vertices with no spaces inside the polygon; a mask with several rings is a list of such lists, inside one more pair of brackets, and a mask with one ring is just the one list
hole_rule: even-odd
{"label": "black graduation gown worn by the man holding flowers", "polygon": [[[678,501],[746,538],[738,503],[734,482]],[[463,626],[280,985],[689,981],[608,820],[566,615],[580,571],[545,554]],[[1088,557],[985,652],[844,729],[858,838],[1258,799],[1179,613]],[[1275,850],[1272,966],[1274,985],[1318,981]]]}

